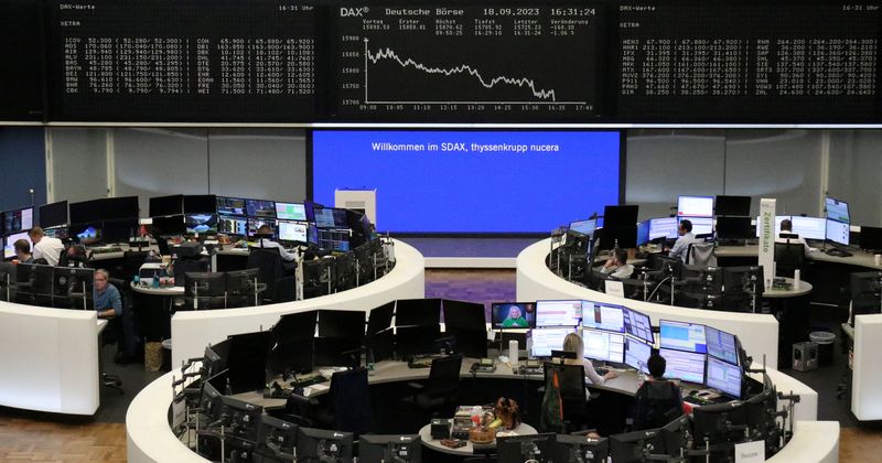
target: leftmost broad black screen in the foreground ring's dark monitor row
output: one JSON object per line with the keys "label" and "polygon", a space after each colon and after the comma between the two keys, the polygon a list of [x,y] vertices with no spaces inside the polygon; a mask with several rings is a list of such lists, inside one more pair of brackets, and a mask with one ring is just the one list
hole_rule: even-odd
{"label": "leftmost broad black screen in the foreground ring's dark monitor row", "polygon": [[229,336],[227,369],[233,394],[262,391],[267,386],[266,365],[272,337],[269,331]]}

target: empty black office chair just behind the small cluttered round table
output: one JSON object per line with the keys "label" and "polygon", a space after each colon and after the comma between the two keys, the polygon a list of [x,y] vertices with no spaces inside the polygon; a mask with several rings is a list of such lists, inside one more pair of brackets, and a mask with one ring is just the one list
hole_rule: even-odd
{"label": "empty black office chair just behind the small cluttered round table", "polygon": [[453,416],[452,406],[456,403],[460,390],[460,370],[462,369],[462,354],[435,358],[429,369],[429,380],[423,386],[409,383],[412,395],[406,397],[422,411],[437,416]]}

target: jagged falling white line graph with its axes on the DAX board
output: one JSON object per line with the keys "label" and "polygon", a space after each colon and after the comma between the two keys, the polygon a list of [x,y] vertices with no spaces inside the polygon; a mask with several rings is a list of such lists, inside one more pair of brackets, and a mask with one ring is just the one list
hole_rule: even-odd
{"label": "jagged falling white line graph with its axes on the DAX board", "polygon": [[[469,65],[469,64],[458,64],[452,67],[438,67],[438,66],[430,66],[423,63],[419,63],[410,57],[402,57],[396,51],[389,47],[380,47],[377,49],[376,52],[372,52],[369,47],[370,40],[364,37],[364,103],[365,104],[392,104],[392,105],[400,105],[400,104],[408,104],[408,105],[422,105],[422,104],[450,104],[450,105],[585,105],[585,101],[558,101],[557,94],[553,88],[538,88],[537,84],[534,79],[528,77],[510,77],[505,75],[498,75],[493,77],[485,77],[481,74],[481,71]],[[392,63],[398,64],[401,68],[413,68],[416,71],[420,71],[422,73],[429,75],[439,75],[440,78],[450,77],[455,75],[466,75],[474,78],[476,83],[478,83],[482,87],[486,89],[493,89],[497,85],[508,85],[528,89],[530,94],[536,98],[535,100],[520,100],[520,101],[512,101],[512,100],[471,100],[471,101],[462,101],[462,100],[372,100],[369,98],[369,78],[368,78],[368,67],[370,64],[377,64],[380,61],[389,61]]]}

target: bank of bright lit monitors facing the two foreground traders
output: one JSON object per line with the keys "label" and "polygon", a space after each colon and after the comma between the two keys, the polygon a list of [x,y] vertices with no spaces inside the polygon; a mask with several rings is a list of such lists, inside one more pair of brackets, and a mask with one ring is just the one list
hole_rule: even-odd
{"label": "bank of bright lit monitors facing the two foreground traders", "polygon": [[[581,329],[584,356],[648,373],[655,345],[649,317],[635,310],[592,301],[537,301],[537,327],[529,332],[530,355],[550,357],[563,338]],[[738,338],[701,324],[662,320],[659,354],[665,377],[706,385],[741,397],[743,372]]]}

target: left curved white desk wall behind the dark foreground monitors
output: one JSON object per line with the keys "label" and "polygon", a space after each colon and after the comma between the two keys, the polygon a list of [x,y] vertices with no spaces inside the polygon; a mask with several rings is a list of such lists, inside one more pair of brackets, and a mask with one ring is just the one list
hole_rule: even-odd
{"label": "left curved white desk wall behind the dark foreground monitors", "polygon": [[351,290],[303,301],[255,308],[178,312],[172,316],[172,365],[202,357],[205,346],[230,334],[269,330],[281,315],[314,309],[367,311],[397,299],[426,297],[426,263],[413,247],[395,240],[396,263],[389,273]]}

